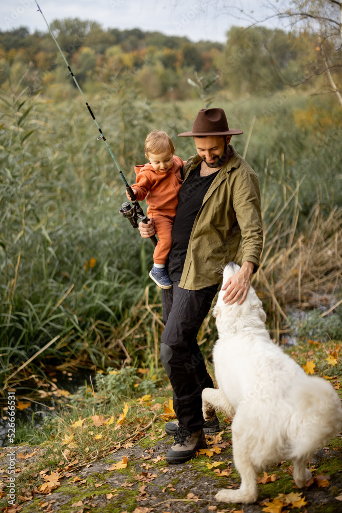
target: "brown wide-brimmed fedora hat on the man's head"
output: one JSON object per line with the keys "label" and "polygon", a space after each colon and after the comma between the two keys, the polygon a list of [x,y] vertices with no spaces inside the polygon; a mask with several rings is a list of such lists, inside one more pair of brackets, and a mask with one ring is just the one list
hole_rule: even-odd
{"label": "brown wide-brimmed fedora hat on the man's head", "polygon": [[239,135],[243,130],[229,129],[223,109],[200,109],[192,125],[191,132],[178,133],[178,137],[196,137],[198,135]]}

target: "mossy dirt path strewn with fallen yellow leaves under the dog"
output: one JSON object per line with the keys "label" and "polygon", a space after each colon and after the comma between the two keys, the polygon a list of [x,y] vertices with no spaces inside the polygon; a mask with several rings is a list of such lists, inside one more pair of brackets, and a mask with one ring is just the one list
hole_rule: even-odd
{"label": "mossy dirt path strewn with fallen yellow leaves under the dog", "polygon": [[[172,444],[172,437],[158,443],[146,437],[129,449],[121,449],[108,459],[94,461],[88,466],[71,466],[68,472],[61,471],[63,478],[58,478],[59,486],[48,495],[32,491],[32,499],[26,498],[18,507],[10,508],[10,513],[85,513],[101,511],[103,513],[204,513],[208,511],[244,513],[286,513],[286,511],[308,511],[309,513],[338,513],[342,511],[342,438],[332,440],[329,447],[320,449],[312,460],[314,479],[309,487],[298,490],[294,488],[289,462],[267,469],[266,480],[260,483],[258,502],[251,505],[223,504],[215,501],[215,493],[220,487],[239,486],[239,475],[232,463],[230,430],[226,429],[218,439],[208,437],[208,448],[214,453],[198,455],[191,462],[182,465],[168,465],[163,459]],[[218,443],[215,443],[218,442]],[[216,448],[215,448],[216,447]],[[10,449],[8,449],[9,451]],[[19,472],[24,471],[29,459],[26,454],[44,458],[44,447],[23,446],[17,449],[21,459],[16,465]],[[4,451],[5,452],[5,451]],[[126,462],[127,459],[127,462]],[[125,468],[108,470],[117,462]],[[222,462],[222,464],[218,464]],[[215,466],[208,468],[208,465]],[[3,453],[0,466],[6,468],[9,455]],[[120,465],[119,465],[120,466]],[[44,469],[46,476],[51,475],[49,462]],[[57,469],[58,471],[58,469]],[[4,472],[4,470],[3,470]],[[226,475],[225,475],[226,474]],[[227,475],[228,474],[228,475]],[[43,474],[44,475],[44,474]],[[1,476],[1,474],[0,474]],[[260,473],[262,476],[262,472]],[[273,477],[272,477],[273,476]],[[33,480],[36,476],[30,476]],[[1,479],[1,478],[0,478]],[[38,493],[37,493],[38,492]],[[306,505],[293,508],[293,503],[277,506],[274,499],[279,494],[295,492],[305,498]],[[7,493],[7,492],[5,492]],[[21,494],[20,490],[16,491]],[[192,494],[192,495],[189,495]],[[23,496],[21,496],[24,499]],[[22,499],[18,502],[21,502]],[[267,506],[265,503],[269,503]],[[274,507],[274,509],[273,509]],[[269,509],[267,509],[269,508]],[[6,511],[6,509],[5,509]]]}

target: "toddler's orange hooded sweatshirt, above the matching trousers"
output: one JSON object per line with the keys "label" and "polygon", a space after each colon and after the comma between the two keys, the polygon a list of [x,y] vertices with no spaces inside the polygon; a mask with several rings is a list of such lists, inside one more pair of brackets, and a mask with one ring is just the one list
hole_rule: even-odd
{"label": "toddler's orange hooded sweatshirt, above the matching trousers", "polygon": [[136,184],[131,187],[136,191],[137,200],[142,201],[146,198],[150,212],[175,211],[178,205],[178,191],[183,183],[180,171],[184,164],[185,161],[174,155],[171,169],[164,173],[155,171],[151,164],[135,166]]}

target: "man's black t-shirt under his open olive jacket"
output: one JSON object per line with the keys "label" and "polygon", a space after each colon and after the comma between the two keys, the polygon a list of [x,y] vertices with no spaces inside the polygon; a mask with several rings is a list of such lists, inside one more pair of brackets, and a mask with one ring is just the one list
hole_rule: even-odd
{"label": "man's black t-shirt under his open olive jacket", "polygon": [[178,206],[172,227],[172,246],[169,252],[168,272],[172,281],[179,281],[187,255],[191,230],[212,181],[218,171],[200,176],[200,163],[179,189]]}

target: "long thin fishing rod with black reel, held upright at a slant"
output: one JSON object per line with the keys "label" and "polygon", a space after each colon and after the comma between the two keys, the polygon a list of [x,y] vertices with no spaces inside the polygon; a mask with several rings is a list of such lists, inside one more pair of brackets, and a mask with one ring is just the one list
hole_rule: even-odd
{"label": "long thin fishing rod with black reel, held upright at a slant", "polygon": [[[110,153],[110,155],[111,155],[111,157],[112,157],[112,159],[113,159],[113,161],[114,161],[114,164],[115,164],[115,166],[116,166],[116,168],[117,168],[117,170],[118,170],[118,172],[119,172],[120,176],[122,177],[122,179],[123,179],[123,181],[124,181],[124,184],[126,185],[126,190],[127,190],[128,194],[129,194],[129,196],[130,196],[131,200],[132,200],[132,204],[131,204],[129,201],[125,201],[125,203],[123,203],[123,204],[122,204],[122,206],[121,206],[121,208],[119,209],[119,212],[120,212],[120,213],[122,213],[122,214],[124,214],[125,218],[127,218],[127,219],[129,220],[129,222],[131,223],[131,225],[133,226],[133,228],[137,228],[137,227],[138,227],[138,220],[140,220],[140,221],[142,221],[143,223],[147,224],[147,222],[149,221],[149,218],[144,214],[144,211],[143,211],[142,207],[140,207],[140,205],[139,205],[139,203],[138,203],[138,201],[137,201],[137,199],[136,199],[136,195],[134,194],[133,189],[132,189],[132,188],[131,188],[131,186],[127,183],[127,180],[126,180],[126,178],[125,178],[125,176],[124,176],[124,173],[123,173],[123,172],[122,172],[122,170],[120,169],[120,166],[118,165],[118,163],[117,163],[117,161],[116,161],[116,159],[115,159],[115,155],[114,155],[114,153],[112,152],[112,150],[111,150],[111,148],[110,148],[110,146],[109,146],[109,144],[108,144],[108,142],[107,142],[107,139],[106,139],[106,137],[105,137],[105,136],[104,136],[104,134],[103,134],[103,131],[100,129],[99,124],[98,124],[98,123],[97,123],[97,121],[96,121],[96,118],[95,118],[95,116],[94,116],[94,114],[93,114],[93,111],[91,110],[90,105],[89,105],[89,103],[87,102],[87,100],[86,100],[86,98],[85,98],[85,95],[83,94],[83,91],[82,91],[81,87],[79,86],[79,84],[78,84],[78,82],[77,82],[77,80],[76,80],[76,77],[75,77],[75,75],[73,74],[73,72],[72,72],[72,70],[71,70],[71,68],[70,68],[70,66],[69,66],[68,61],[67,61],[67,60],[66,60],[66,58],[65,58],[65,55],[64,55],[64,53],[63,53],[63,52],[62,52],[62,50],[61,50],[61,47],[58,45],[58,42],[57,42],[57,40],[56,40],[55,36],[54,36],[54,35],[53,35],[53,33],[52,33],[52,30],[51,30],[51,28],[50,28],[50,25],[49,25],[49,24],[48,24],[48,22],[46,21],[46,18],[45,18],[44,14],[43,14],[42,9],[39,7],[39,5],[38,5],[38,3],[37,3],[37,0],[34,0],[34,1],[35,1],[36,5],[37,5],[37,7],[38,7],[38,11],[42,14],[42,16],[43,16],[43,18],[44,18],[44,21],[45,21],[45,23],[46,23],[46,26],[47,26],[47,27],[48,27],[48,29],[49,29],[49,32],[50,32],[50,34],[51,34],[51,36],[52,36],[52,38],[53,38],[53,41],[56,43],[57,48],[58,48],[59,52],[61,53],[61,55],[62,55],[62,57],[63,57],[63,59],[64,59],[65,64],[67,65],[67,68],[68,68],[68,70],[69,70],[68,75],[71,75],[71,76],[72,76],[72,78],[73,78],[73,80],[74,80],[74,83],[76,84],[76,87],[77,87],[78,91],[81,93],[81,95],[82,95],[82,97],[83,97],[83,100],[84,100],[84,102],[85,102],[85,104],[86,104],[86,106],[87,106],[87,109],[89,110],[89,113],[90,113],[90,115],[91,115],[92,119],[94,120],[95,125],[96,125],[96,127],[97,127],[97,129],[98,129],[98,131],[99,131],[99,133],[100,133],[100,134],[99,134],[99,136],[97,137],[97,141],[99,141],[100,139],[102,139],[102,140],[104,141],[104,143],[105,143],[105,145],[107,146],[107,149],[108,149],[108,151],[109,151],[109,153]],[[150,239],[151,239],[151,241],[152,241],[153,245],[154,245],[154,246],[156,246],[156,245],[157,245],[157,239],[156,239],[156,236],[155,236],[155,235],[152,235],[152,237],[150,237]]]}

